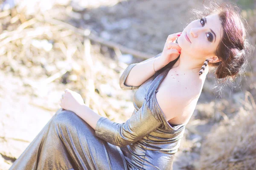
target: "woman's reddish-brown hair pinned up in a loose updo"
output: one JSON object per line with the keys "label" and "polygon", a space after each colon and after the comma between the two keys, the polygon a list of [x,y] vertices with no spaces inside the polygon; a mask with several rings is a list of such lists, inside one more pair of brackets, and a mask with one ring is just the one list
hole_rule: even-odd
{"label": "woman's reddish-brown hair pinned up in a loose updo", "polygon": [[216,68],[215,75],[218,79],[234,79],[237,74],[245,71],[247,66],[247,56],[253,48],[246,39],[248,33],[246,20],[240,15],[240,8],[233,2],[223,2],[218,4],[210,1],[209,5],[202,10],[193,9],[195,19],[217,13],[223,28],[223,37],[218,44],[215,55],[221,60],[217,63],[210,63],[209,66]]}

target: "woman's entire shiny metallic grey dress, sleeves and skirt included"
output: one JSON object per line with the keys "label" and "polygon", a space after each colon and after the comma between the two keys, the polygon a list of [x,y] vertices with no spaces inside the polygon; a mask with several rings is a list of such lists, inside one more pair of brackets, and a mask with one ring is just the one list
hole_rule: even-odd
{"label": "woman's entire shiny metallic grey dress, sleeves and skirt included", "polygon": [[140,86],[127,86],[125,79],[136,64],[120,77],[122,89],[137,89],[126,122],[101,117],[93,130],[72,111],[60,109],[10,170],[172,170],[186,125],[169,124],[156,100],[171,67]]}

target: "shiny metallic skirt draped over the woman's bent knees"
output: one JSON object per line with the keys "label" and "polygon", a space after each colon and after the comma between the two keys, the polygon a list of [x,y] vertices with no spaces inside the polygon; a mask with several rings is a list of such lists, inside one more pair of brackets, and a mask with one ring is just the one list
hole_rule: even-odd
{"label": "shiny metallic skirt draped over the woman's bent knees", "polygon": [[127,170],[122,151],[95,136],[72,111],[59,109],[9,170]]}

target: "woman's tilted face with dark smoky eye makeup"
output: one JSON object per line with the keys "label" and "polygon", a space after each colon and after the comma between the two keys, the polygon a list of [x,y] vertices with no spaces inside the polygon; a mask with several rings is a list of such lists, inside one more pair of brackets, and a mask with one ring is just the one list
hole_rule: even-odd
{"label": "woman's tilted face with dark smoky eye makeup", "polygon": [[[186,34],[190,41],[186,39]],[[178,38],[178,44],[185,55],[207,59],[215,56],[221,37],[221,20],[214,13],[189,23]]]}

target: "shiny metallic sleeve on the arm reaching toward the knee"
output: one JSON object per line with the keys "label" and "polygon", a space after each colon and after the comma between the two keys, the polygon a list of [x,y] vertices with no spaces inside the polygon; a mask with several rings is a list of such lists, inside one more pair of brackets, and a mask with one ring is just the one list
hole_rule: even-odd
{"label": "shiny metallic sleeve on the arm reaching toward the knee", "polygon": [[[153,100],[153,98],[149,100]],[[112,122],[106,117],[101,117],[96,124],[96,136],[119,147],[134,143],[147,136],[163,124],[157,115],[162,113],[154,105],[151,105],[151,102],[145,101],[137,113],[132,114],[131,118],[124,123]]]}

